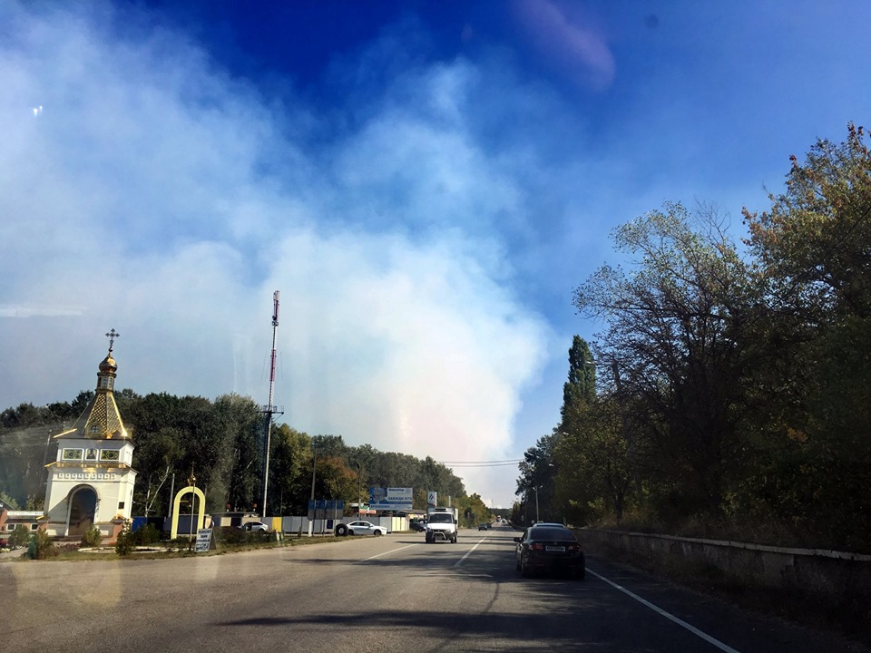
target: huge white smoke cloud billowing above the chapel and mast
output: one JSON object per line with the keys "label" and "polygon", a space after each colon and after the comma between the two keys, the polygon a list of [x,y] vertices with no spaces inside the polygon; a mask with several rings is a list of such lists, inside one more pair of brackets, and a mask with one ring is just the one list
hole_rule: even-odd
{"label": "huge white smoke cloud billowing above the chapel and mast", "polygon": [[[134,19],[117,36],[129,16],[96,6],[3,10],[20,30],[0,46],[0,404],[93,387],[112,327],[122,387],[265,403],[279,289],[288,424],[512,457],[552,334],[512,288],[499,228],[524,187],[465,123],[475,70],[421,71],[321,150],[324,125],[288,122],[315,113],[292,91],[277,105]],[[510,502],[511,474],[463,472]]]}

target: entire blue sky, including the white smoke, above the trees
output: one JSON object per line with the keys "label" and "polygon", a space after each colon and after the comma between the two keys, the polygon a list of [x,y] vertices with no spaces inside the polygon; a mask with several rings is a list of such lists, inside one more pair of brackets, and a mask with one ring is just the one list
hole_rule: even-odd
{"label": "entire blue sky, including the white smoke, above the trees", "polygon": [[[253,6],[251,6],[253,5]],[[853,2],[0,5],[0,407],[119,385],[349,444],[519,458],[573,288],[664,201],[743,233],[871,106]],[[514,499],[514,468],[464,468]]]}

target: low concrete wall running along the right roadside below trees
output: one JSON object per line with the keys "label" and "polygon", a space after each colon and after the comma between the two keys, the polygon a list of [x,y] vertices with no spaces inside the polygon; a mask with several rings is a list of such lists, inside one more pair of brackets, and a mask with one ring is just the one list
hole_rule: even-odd
{"label": "low concrete wall running along the right roadside below trees", "polygon": [[832,608],[871,609],[871,555],[622,531],[576,532],[586,551],[645,569],[798,594]]}

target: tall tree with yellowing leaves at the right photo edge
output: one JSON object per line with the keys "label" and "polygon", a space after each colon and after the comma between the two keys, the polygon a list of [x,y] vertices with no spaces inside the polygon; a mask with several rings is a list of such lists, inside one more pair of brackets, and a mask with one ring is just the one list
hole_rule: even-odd
{"label": "tall tree with yellowing leaves at the right photo edge", "polygon": [[790,157],[771,209],[745,210],[747,241],[768,282],[767,331],[778,365],[761,377],[754,473],[741,508],[771,512],[814,541],[861,547],[871,532],[871,153],[819,140]]}

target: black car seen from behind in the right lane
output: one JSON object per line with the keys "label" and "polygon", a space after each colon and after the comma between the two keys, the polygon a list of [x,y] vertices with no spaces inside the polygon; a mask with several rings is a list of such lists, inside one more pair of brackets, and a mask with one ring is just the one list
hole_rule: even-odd
{"label": "black car seen from behind in the right lane", "polygon": [[581,543],[564,526],[536,525],[514,541],[514,566],[524,578],[536,571],[560,571],[579,580],[586,575]]}

